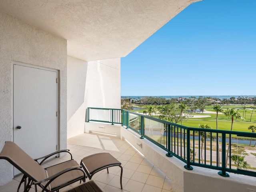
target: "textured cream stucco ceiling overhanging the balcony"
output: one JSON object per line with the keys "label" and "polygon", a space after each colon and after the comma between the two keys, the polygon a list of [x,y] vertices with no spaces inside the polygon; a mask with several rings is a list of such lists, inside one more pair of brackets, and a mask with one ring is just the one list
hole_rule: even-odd
{"label": "textured cream stucco ceiling overhanging the balcony", "polygon": [[0,0],[0,10],[62,37],[68,55],[120,58],[200,0]]}

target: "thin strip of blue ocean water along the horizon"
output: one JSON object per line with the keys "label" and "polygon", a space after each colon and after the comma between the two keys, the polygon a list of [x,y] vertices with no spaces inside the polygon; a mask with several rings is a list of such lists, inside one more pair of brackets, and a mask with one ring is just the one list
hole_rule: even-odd
{"label": "thin strip of blue ocean water along the horizon", "polygon": [[[230,99],[230,97],[235,97],[236,99],[238,97],[248,97],[248,98],[254,98],[255,95],[222,95],[222,96],[219,96],[219,95],[209,95],[209,96],[202,96],[202,97],[211,97],[211,98],[219,98],[219,99]],[[162,97],[162,98],[166,98],[166,99],[170,99],[170,98],[190,98],[190,97],[200,97],[200,96],[195,96],[195,95],[183,95],[183,96],[121,96],[122,99],[124,98],[133,98],[133,99],[137,99],[137,98],[142,98],[142,97]]]}

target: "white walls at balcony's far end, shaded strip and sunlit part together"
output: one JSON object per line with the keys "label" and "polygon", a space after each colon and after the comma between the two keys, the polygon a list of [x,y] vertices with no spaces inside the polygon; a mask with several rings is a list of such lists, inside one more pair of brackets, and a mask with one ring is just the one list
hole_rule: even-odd
{"label": "white walls at balcony's far end, shaded strip and sunlit part together", "polygon": [[67,74],[70,138],[84,133],[87,107],[120,108],[120,58],[85,62],[68,56]]}

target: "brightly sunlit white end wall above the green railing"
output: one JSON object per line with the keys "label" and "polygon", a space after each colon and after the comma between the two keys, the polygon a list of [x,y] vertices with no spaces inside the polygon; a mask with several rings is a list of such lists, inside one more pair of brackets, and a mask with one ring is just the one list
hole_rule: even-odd
{"label": "brightly sunlit white end wall above the green railing", "polygon": [[86,108],[120,108],[120,75],[120,58],[88,62]]}

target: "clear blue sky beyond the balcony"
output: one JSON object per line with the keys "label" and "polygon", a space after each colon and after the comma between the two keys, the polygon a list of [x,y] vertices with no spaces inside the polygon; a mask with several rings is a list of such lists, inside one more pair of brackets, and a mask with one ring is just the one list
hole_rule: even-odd
{"label": "clear blue sky beyond the balcony", "polygon": [[256,0],[188,6],[121,58],[121,96],[256,95]]}

